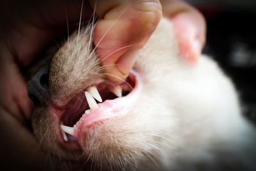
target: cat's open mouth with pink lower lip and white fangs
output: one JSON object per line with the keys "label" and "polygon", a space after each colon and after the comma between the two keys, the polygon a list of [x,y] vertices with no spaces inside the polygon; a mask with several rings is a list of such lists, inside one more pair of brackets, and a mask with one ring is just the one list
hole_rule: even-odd
{"label": "cat's open mouth with pink lower lip and white fangs", "polygon": [[129,113],[141,91],[141,79],[131,71],[125,82],[100,80],[77,94],[60,117],[60,139],[65,147],[81,148],[81,140],[95,123]]}

